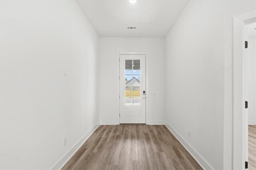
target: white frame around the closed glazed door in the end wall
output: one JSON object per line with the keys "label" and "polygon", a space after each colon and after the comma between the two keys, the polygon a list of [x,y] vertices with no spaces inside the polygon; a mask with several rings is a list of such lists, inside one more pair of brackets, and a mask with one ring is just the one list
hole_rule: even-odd
{"label": "white frame around the closed glazed door in the end wall", "polygon": [[117,76],[117,84],[118,84],[118,89],[117,89],[117,98],[118,98],[118,113],[116,115],[117,117],[117,120],[118,120],[118,124],[120,124],[120,117],[119,117],[119,114],[120,114],[120,98],[119,98],[119,95],[120,95],[120,80],[119,80],[119,73],[120,73],[120,65],[119,65],[119,55],[146,55],[146,125],[148,124],[148,100],[149,100],[149,94],[148,92],[148,53],[142,53],[142,52],[119,52],[118,55],[117,55],[117,72],[118,72],[118,76]]}

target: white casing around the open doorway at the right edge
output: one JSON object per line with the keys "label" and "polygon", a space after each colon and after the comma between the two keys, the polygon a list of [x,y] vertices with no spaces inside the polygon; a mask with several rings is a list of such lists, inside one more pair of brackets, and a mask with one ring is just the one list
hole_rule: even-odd
{"label": "white casing around the open doorway at the right edge", "polygon": [[245,169],[246,115],[245,115],[245,35],[244,25],[256,20],[256,11],[234,17],[233,27],[233,169]]}

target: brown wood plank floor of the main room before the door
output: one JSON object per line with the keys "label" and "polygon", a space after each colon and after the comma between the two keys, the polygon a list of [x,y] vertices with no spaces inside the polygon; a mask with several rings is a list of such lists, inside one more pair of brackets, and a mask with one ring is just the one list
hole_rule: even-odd
{"label": "brown wood plank floor of the main room before the door", "polygon": [[62,170],[202,170],[165,125],[100,125]]}

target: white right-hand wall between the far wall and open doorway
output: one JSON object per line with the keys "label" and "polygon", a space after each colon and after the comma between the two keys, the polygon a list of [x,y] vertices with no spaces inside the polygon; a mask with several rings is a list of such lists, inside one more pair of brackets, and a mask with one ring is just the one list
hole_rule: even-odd
{"label": "white right-hand wall between the far wall and open doorway", "polygon": [[166,123],[205,168],[232,169],[233,17],[254,9],[193,0],[166,37]]}

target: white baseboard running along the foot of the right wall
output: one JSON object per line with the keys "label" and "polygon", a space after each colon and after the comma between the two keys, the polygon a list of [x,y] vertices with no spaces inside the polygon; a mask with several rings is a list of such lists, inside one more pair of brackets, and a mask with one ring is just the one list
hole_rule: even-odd
{"label": "white baseboard running along the foot of the right wall", "polygon": [[185,141],[185,139],[180,136],[180,134],[175,131],[171,125],[169,125],[169,123],[165,122],[166,127],[172,132],[172,134],[178,139],[178,141],[180,141],[180,143],[183,145],[183,147],[188,150],[188,152],[193,156],[193,158],[196,160],[196,162],[198,162],[198,164],[200,164],[200,166],[202,166],[202,168],[204,170],[213,170],[212,166],[210,166],[210,164],[204,160],[204,158],[202,158],[202,156],[200,154],[198,154],[198,152],[196,152],[196,150],[194,148],[192,148],[187,141]]}

